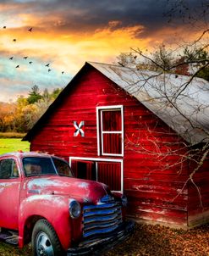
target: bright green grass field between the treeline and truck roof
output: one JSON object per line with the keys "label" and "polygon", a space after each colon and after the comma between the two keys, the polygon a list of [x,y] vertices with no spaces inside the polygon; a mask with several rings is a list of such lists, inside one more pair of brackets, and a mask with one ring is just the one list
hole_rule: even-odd
{"label": "bright green grass field between the treeline and truck roof", "polygon": [[9,153],[18,150],[29,151],[30,143],[21,142],[21,139],[17,138],[3,138],[0,139],[0,154]]}

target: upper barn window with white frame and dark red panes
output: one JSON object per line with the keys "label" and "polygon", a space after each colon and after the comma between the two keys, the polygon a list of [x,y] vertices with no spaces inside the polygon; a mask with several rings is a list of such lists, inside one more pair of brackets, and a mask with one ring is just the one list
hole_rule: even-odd
{"label": "upper barn window with white frame and dark red panes", "polygon": [[98,155],[124,155],[123,106],[97,107]]}

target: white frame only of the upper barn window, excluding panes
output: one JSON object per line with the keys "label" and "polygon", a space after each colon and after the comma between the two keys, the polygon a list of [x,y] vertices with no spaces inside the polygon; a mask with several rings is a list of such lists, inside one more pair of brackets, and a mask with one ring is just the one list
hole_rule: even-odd
{"label": "white frame only of the upper barn window, excluding panes", "polygon": [[[121,131],[102,131],[102,110],[119,110],[121,112]],[[99,112],[101,111],[101,116],[99,116]],[[101,120],[101,122],[100,122]],[[101,129],[100,129],[101,125]],[[96,107],[96,126],[97,126],[97,154],[98,156],[116,156],[123,157],[124,156],[124,106],[123,105],[112,105],[112,106],[99,106]],[[100,130],[101,134],[101,142],[100,142]],[[121,134],[121,153],[103,153],[103,134]],[[102,152],[100,150],[100,143]]]}

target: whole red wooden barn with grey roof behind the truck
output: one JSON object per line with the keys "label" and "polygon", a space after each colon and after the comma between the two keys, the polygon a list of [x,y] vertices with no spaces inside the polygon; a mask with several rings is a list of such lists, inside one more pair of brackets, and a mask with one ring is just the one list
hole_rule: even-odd
{"label": "whole red wooden barn with grey roof behind the truck", "polygon": [[85,63],[24,140],[124,192],[130,217],[200,225],[209,220],[209,161],[199,150],[209,141],[209,85],[189,81]]}

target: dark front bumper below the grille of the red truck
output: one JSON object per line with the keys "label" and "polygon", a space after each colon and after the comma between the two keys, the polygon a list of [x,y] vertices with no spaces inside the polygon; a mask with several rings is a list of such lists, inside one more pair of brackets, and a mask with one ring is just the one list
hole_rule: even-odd
{"label": "dark front bumper below the grille of the red truck", "polygon": [[77,248],[69,248],[67,256],[75,255],[101,255],[104,251],[114,248],[118,243],[126,240],[134,231],[135,222],[129,220],[120,227],[119,230],[111,233],[110,237],[102,238],[97,242],[80,246]]}

